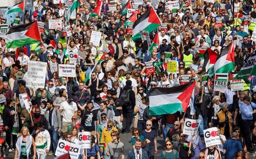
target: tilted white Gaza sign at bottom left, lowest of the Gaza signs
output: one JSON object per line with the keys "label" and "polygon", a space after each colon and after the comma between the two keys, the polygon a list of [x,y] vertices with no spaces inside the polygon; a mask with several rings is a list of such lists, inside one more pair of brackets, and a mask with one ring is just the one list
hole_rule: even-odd
{"label": "tilted white Gaza sign at bottom left, lowest of the Gaza signs", "polygon": [[67,142],[59,139],[55,156],[61,156],[67,152],[70,153],[70,159],[78,159],[81,150],[81,145]]}

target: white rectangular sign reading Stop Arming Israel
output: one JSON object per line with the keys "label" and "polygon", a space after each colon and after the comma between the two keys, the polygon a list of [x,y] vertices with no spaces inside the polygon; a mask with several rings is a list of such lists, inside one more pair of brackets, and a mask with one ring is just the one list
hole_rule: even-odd
{"label": "white rectangular sign reading Stop Arming Israel", "polygon": [[76,77],[76,65],[59,65],[59,77]]}

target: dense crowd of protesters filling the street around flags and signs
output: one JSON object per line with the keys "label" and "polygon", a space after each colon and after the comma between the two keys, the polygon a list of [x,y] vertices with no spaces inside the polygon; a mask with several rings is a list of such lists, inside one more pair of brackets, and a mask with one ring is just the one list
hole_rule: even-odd
{"label": "dense crowd of protesters filling the street around flags and signs", "polygon": [[[133,41],[123,27],[127,17],[119,11],[125,1],[117,0],[116,10],[111,11],[109,2],[102,0],[99,15],[93,14],[94,0],[81,2],[70,19],[66,19],[65,3],[52,4],[52,0],[38,0],[31,15],[26,10],[21,23],[37,20],[45,24],[39,44],[6,48],[5,39],[0,38],[0,114],[6,135],[5,140],[0,139],[0,157],[14,150],[15,159],[46,159],[55,153],[58,139],[78,144],[78,133],[89,131],[91,148],[87,156],[82,149],[79,158],[124,159],[126,155],[128,159],[154,159],[161,153],[161,159],[248,159],[247,153],[253,153],[256,144],[256,77],[244,80],[241,91],[231,91],[230,81],[226,91],[213,91],[214,77],[203,89],[202,76],[207,72],[197,53],[198,48],[210,48],[220,54],[231,43],[233,71],[239,71],[244,59],[255,51],[251,40],[256,26],[255,0],[235,0],[233,6],[229,0],[179,0],[177,13],[161,0],[156,12],[168,24],[168,31],[160,26],[150,33],[150,43]],[[135,6],[133,1],[131,6]],[[143,0],[137,17],[150,7],[150,1]],[[221,27],[216,23],[219,17]],[[61,19],[72,35],[64,37],[61,29],[49,29],[50,19]],[[101,32],[99,46],[90,42],[92,31]],[[149,50],[157,32],[159,46]],[[74,65],[69,61],[71,52],[79,54],[76,77],[58,77],[59,64]],[[171,52],[171,59],[177,61],[178,74],[167,72],[165,52]],[[23,77],[30,60],[47,62],[45,88],[26,87]],[[146,72],[147,61],[154,62],[154,73]],[[196,83],[194,101],[185,114],[150,115],[151,89],[181,85],[181,75],[189,75]],[[21,108],[19,94],[26,94],[29,110]],[[184,116],[201,119],[197,135],[183,134]],[[12,134],[14,122],[18,135]],[[205,148],[201,138],[210,127],[218,127],[222,144]],[[131,146],[124,146],[120,133],[132,133]],[[157,136],[163,138],[162,152],[157,149]],[[189,142],[191,148],[186,146]],[[131,151],[125,154],[125,149]]]}

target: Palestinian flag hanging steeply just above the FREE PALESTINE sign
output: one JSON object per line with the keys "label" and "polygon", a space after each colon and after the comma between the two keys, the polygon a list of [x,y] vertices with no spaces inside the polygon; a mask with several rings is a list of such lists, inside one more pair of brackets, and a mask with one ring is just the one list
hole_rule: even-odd
{"label": "Palestinian flag hanging steeply just above the FREE PALESTINE sign", "polygon": [[228,44],[218,55],[214,65],[214,73],[229,73],[235,68],[234,45]]}

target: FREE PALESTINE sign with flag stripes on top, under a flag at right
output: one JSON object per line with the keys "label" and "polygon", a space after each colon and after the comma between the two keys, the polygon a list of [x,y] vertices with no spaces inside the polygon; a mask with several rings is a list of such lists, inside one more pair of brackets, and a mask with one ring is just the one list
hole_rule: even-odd
{"label": "FREE PALESTINE sign with flag stripes on top, under a flag at right", "polygon": [[215,74],[214,91],[225,91],[227,89],[228,74]]}

